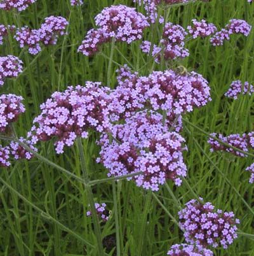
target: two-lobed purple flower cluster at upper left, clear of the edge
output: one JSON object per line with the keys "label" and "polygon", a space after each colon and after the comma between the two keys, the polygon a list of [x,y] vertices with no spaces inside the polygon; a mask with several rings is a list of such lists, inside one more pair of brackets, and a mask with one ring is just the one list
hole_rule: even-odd
{"label": "two-lobed purple flower cluster at upper left, clear of the edge", "polygon": [[29,53],[36,55],[41,52],[40,43],[55,45],[58,36],[66,34],[67,25],[68,22],[65,18],[50,16],[45,18],[39,29],[30,29],[27,26],[18,29],[15,39],[20,43],[21,48],[27,46]]}

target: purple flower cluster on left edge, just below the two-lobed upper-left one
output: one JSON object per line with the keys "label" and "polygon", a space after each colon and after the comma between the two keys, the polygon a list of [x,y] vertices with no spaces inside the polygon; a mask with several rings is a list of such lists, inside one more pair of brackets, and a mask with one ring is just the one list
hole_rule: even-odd
{"label": "purple flower cluster on left edge, just below the two-lobed upper-left one", "polygon": [[0,87],[5,78],[15,78],[22,72],[23,62],[13,55],[0,57]]}

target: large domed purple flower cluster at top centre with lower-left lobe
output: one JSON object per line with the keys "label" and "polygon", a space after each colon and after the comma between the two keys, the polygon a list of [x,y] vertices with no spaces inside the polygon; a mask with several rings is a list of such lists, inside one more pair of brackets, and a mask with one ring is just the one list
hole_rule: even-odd
{"label": "large domed purple flower cluster at top centre with lower-left lobe", "polygon": [[132,41],[142,38],[142,32],[149,26],[147,18],[141,13],[124,5],[110,6],[104,8],[95,17],[98,29],[91,29],[78,48],[78,52],[91,56],[98,52],[103,43],[109,42],[111,38],[116,41]]}

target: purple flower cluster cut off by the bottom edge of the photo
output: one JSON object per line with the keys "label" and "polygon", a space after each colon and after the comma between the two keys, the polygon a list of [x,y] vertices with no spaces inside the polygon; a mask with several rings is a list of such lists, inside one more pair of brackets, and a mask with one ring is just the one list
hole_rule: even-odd
{"label": "purple flower cluster cut off by the bottom edge of the photo", "polygon": [[170,256],[213,256],[213,252],[204,248],[201,245],[188,245],[182,243],[181,245],[173,245],[168,251]]}

